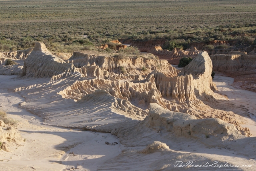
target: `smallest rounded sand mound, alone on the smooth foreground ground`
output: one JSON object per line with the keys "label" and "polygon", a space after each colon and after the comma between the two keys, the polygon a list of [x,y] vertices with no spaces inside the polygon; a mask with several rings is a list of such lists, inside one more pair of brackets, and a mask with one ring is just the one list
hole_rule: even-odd
{"label": "smallest rounded sand mound, alone on the smooth foreground ground", "polygon": [[170,151],[170,149],[166,145],[166,143],[162,143],[162,142],[159,142],[159,141],[154,141],[152,144],[148,145],[141,152],[146,153],[146,154],[150,154],[150,153],[161,152],[161,151]]}

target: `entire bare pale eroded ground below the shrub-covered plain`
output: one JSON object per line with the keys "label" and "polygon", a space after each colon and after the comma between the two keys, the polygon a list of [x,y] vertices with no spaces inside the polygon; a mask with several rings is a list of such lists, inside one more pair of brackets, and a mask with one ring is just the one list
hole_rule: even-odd
{"label": "entire bare pale eroded ground below the shrub-covered plain", "polygon": [[218,161],[254,170],[256,93],[228,76],[254,74],[255,55],[194,52],[178,69],[150,53],[63,54],[41,42],[0,54],[1,110],[18,121],[0,122],[1,168],[169,171]]}

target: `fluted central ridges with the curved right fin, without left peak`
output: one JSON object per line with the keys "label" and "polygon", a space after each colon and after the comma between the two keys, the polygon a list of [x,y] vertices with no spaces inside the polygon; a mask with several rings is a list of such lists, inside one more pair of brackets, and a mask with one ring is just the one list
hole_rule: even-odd
{"label": "fluted central ridges with the curved right fin, without left peak", "polygon": [[[87,64],[87,66],[81,67],[82,73],[84,76],[95,79],[76,81],[70,87],[60,91],[59,94],[64,98],[78,101],[97,89],[104,89],[112,96],[130,101],[142,109],[147,109],[150,103],[158,103],[165,109],[189,113],[197,118],[218,117],[236,125],[237,129],[242,131],[244,135],[250,135],[248,129],[242,129],[239,126],[239,121],[232,117],[234,116],[233,113],[212,109],[208,106],[216,103],[215,98],[218,99],[219,97],[214,95],[210,89],[213,86],[212,62],[207,52],[200,54],[181,71],[172,68],[170,65],[168,66],[168,64],[164,63],[163,65],[162,61],[164,60],[160,60],[161,67],[159,69],[152,68],[152,66],[147,67],[153,71],[148,74],[145,80],[142,80],[142,78],[135,79],[138,80],[136,82],[129,82],[129,80],[134,80],[134,77],[130,75],[118,76],[114,74],[118,73],[118,66],[126,67],[130,74],[140,74],[136,73],[134,67],[138,68],[144,62],[155,64],[155,60],[145,61],[142,58],[115,60],[108,56],[90,56],[79,54],[79,52],[70,59],[72,61],[69,62],[72,62],[76,67]],[[111,72],[112,74],[110,74]],[[117,108],[118,105],[114,106]],[[225,105],[220,106],[219,108],[225,108]],[[231,104],[227,106],[231,107]]]}

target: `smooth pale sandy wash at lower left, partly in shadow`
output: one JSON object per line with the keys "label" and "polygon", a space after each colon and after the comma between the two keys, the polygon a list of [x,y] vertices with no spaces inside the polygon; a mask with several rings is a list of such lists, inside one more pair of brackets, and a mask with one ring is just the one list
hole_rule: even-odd
{"label": "smooth pale sandy wash at lower left, partly in shadow", "polygon": [[[0,76],[0,80],[13,77]],[[0,109],[19,121],[17,128],[26,141],[24,146],[13,144],[11,152],[0,151],[1,171],[60,171],[72,167],[76,171],[94,171],[121,153],[122,145],[116,136],[42,125],[39,117],[18,107],[23,101],[20,95],[0,88]],[[118,144],[106,145],[105,141]]]}

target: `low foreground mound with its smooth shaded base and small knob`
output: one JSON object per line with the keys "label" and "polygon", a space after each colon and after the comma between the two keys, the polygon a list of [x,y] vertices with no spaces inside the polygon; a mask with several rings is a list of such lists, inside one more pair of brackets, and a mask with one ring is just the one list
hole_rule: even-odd
{"label": "low foreground mound with its smooth shaded base and small knob", "polygon": [[[120,125],[111,133],[117,135],[124,145],[147,146],[139,153],[172,151],[169,148],[184,149],[186,146],[190,149],[191,140],[195,140],[208,148],[228,148],[247,157],[256,155],[256,137],[242,135],[234,125],[217,118],[196,119],[193,115],[163,109],[156,103],[150,104],[148,116],[143,121]],[[153,143],[148,145],[147,142]],[[180,146],[173,147],[176,143]]]}

